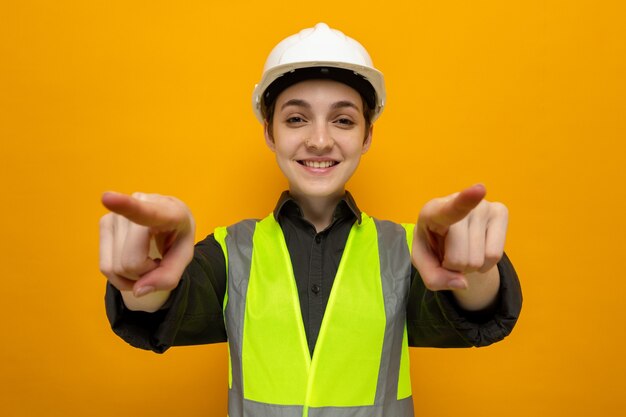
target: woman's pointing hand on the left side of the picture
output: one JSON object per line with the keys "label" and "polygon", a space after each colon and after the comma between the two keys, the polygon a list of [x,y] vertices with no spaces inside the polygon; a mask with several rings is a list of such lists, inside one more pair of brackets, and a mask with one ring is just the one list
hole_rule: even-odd
{"label": "woman's pointing hand on the left side of the picture", "polygon": [[100,271],[131,310],[156,311],[193,257],[195,222],[180,200],[106,192],[100,219]]}

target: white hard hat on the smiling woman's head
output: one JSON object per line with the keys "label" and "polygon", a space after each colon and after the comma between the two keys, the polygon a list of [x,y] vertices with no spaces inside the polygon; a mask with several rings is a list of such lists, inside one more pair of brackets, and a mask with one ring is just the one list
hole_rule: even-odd
{"label": "white hard hat on the smiling woman's head", "polygon": [[261,123],[266,104],[285,88],[305,79],[329,78],[357,90],[372,110],[371,122],[385,106],[385,80],[365,48],[325,23],[282,40],[270,52],[263,77],[254,87],[252,107]]}

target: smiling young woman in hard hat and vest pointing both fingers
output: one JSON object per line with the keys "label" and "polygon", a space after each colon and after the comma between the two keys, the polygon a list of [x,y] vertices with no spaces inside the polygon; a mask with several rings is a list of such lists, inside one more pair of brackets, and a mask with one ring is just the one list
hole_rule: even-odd
{"label": "smiling young woman in hard hat and vest pointing both fingers", "polygon": [[156,352],[228,341],[231,417],[412,416],[408,346],[496,342],[521,292],[507,210],[482,185],[430,201],[415,225],[357,207],[345,185],[384,103],[382,74],[341,32],[320,23],[279,43],[253,106],[289,191],[195,248],[181,201],[105,193],[114,331]]}

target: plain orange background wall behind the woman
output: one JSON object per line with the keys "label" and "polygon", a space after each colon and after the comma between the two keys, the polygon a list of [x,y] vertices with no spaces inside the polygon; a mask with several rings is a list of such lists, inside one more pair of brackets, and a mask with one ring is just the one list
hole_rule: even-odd
{"label": "plain orange background wall behind the woman", "polygon": [[414,221],[480,181],[511,213],[519,324],[412,350],[416,415],[624,415],[624,4],[2,0],[0,415],[225,415],[224,344],[160,356],[109,330],[99,198],[176,195],[198,239],[269,213],[286,183],[252,88],[318,21],[387,79],[362,209]]}

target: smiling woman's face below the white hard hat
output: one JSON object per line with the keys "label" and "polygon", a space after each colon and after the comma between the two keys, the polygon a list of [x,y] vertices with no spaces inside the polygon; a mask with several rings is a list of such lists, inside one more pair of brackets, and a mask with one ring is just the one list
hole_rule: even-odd
{"label": "smiling woman's face below the white hard hat", "polygon": [[307,80],[276,99],[267,145],[295,198],[343,195],[372,140],[360,94],[331,80]]}

